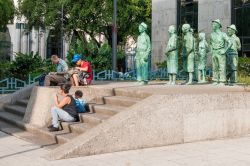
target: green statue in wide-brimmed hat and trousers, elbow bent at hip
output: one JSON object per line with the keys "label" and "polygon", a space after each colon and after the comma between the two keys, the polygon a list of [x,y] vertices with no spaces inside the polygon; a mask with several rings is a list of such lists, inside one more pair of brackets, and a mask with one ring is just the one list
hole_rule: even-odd
{"label": "green statue in wide-brimmed hat and trousers, elbow bent at hip", "polygon": [[226,52],[231,48],[232,43],[229,37],[221,31],[219,19],[212,21],[213,32],[211,33],[210,44],[213,63],[214,85],[225,85],[226,82]]}

